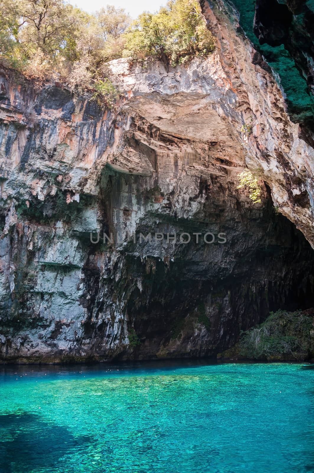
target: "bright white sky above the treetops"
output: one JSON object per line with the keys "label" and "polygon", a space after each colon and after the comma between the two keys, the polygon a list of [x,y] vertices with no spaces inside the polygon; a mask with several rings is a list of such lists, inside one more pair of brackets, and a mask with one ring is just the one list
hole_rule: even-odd
{"label": "bright white sky above the treetops", "polygon": [[116,8],[124,8],[130,13],[132,18],[136,18],[143,11],[155,12],[162,5],[166,5],[166,0],[147,1],[147,0],[69,0],[72,5],[78,6],[80,9],[93,13],[96,10],[105,7],[105,5],[114,5]]}

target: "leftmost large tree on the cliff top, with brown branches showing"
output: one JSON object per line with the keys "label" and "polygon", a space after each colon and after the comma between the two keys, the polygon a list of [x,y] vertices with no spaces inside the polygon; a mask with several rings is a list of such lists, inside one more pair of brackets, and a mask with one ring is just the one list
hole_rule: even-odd
{"label": "leftmost large tree on the cliff top, with brown branches showing", "polygon": [[40,79],[61,70],[80,10],[63,0],[1,0],[1,7],[1,56],[9,65]]}

